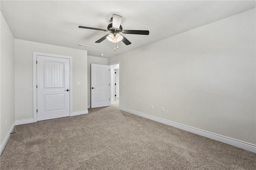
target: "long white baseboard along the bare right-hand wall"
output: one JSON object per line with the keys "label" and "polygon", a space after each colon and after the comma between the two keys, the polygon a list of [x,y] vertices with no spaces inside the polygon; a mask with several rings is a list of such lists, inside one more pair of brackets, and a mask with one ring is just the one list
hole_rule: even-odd
{"label": "long white baseboard along the bare right-hand wall", "polygon": [[214,134],[214,133],[210,133],[210,132],[203,131],[203,130],[200,130],[200,129],[196,129],[196,128],[193,128],[193,127],[189,127],[189,126],[186,126],[186,125],[182,125],[182,124],[179,124],[179,123],[175,123],[175,122],[172,122],[172,121],[168,121],[168,120],[165,120],[165,119],[161,119],[161,118],[158,118],[158,117],[147,115],[145,113],[140,113],[138,111],[126,109],[124,107],[121,107],[120,110],[126,111],[128,113],[132,113],[134,115],[138,115],[138,116],[141,116],[141,117],[145,117],[145,118],[153,120],[153,121],[164,123],[166,125],[170,125],[170,126],[173,126],[173,127],[185,130],[185,131],[189,131],[191,133],[196,133],[198,135],[208,137],[210,139],[214,139],[216,141],[220,141],[220,142],[223,142],[223,143],[227,143],[229,145],[233,145],[233,146],[238,147],[238,148],[250,150],[251,152],[256,152],[256,145],[254,145],[254,144],[246,143],[246,142],[239,141],[239,140],[236,140],[236,139],[232,139],[232,138],[229,138],[229,137],[224,137],[222,135],[217,135],[217,134]]}

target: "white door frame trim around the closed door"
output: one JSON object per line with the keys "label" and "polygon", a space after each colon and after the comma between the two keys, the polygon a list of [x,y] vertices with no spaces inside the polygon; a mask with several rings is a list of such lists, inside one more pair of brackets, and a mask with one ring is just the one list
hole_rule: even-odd
{"label": "white door frame trim around the closed door", "polygon": [[71,116],[73,111],[73,79],[72,79],[72,57],[71,56],[65,56],[65,55],[56,55],[56,54],[48,54],[48,53],[38,53],[33,52],[33,122],[37,122],[37,65],[36,65],[36,56],[37,55],[43,55],[47,57],[57,57],[57,58],[63,58],[63,59],[69,59],[69,87],[70,87],[70,96],[69,96],[69,116]]}

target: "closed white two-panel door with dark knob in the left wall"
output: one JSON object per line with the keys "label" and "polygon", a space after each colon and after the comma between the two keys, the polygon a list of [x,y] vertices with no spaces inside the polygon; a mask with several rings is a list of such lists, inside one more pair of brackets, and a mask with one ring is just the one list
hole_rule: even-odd
{"label": "closed white two-panel door with dark knob in the left wall", "polygon": [[37,56],[37,121],[70,115],[69,59]]}

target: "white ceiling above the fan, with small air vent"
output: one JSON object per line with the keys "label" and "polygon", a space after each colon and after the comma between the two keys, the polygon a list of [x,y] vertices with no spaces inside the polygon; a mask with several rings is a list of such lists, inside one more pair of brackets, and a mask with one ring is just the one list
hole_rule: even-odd
{"label": "white ceiling above the fan, with small air vent", "polygon": [[[1,12],[14,38],[88,51],[88,55],[112,57],[179,33],[255,8],[252,1],[5,1]],[[149,35],[125,37],[132,43],[104,40],[112,14],[123,17],[123,29],[149,30]],[[89,45],[81,47],[77,44]]]}

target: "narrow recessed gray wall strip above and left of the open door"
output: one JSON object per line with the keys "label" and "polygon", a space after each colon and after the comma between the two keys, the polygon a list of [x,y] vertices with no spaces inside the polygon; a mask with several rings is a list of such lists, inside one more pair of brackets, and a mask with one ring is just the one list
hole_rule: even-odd
{"label": "narrow recessed gray wall strip above and left of the open door", "polygon": [[89,56],[87,58],[87,81],[88,81],[88,107],[91,105],[91,64],[108,65],[108,59],[103,57]]}

